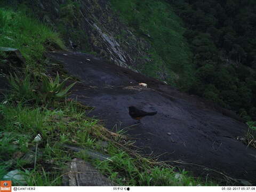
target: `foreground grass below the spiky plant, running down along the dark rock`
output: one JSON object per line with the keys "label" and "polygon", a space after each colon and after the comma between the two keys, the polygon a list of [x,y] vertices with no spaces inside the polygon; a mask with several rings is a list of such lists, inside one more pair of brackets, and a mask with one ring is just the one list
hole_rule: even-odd
{"label": "foreground grass below the spiky plant, running down along the dark rock", "polygon": [[[126,151],[127,146],[117,146],[113,136],[109,135],[97,120],[86,117],[85,111],[77,108],[76,101],[61,103],[61,106],[49,110],[9,102],[0,105],[1,113],[4,115],[3,123],[0,125],[0,143],[3,149],[3,154],[0,155],[1,162],[14,160],[12,164],[0,166],[3,172],[0,171],[0,175],[4,175],[7,170],[27,170],[28,185],[61,185],[61,175],[66,168],[66,162],[71,158],[83,157],[121,186],[194,186],[198,183],[202,185],[202,182],[189,177],[185,171],[178,174],[173,168],[164,164],[154,165],[154,161],[142,158],[138,154],[132,157],[135,153],[129,154]],[[34,158],[30,162],[18,161],[15,155],[31,151],[31,148],[36,146],[33,140],[38,134],[41,134],[42,140],[38,144],[40,155],[37,156],[36,167]],[[75,145],[104,154],[106,150],[97,143],[102,139],[109,143],[107,154],[111,161],[95,161],[79,153],[69,153],[63,148],[64,144]]]}

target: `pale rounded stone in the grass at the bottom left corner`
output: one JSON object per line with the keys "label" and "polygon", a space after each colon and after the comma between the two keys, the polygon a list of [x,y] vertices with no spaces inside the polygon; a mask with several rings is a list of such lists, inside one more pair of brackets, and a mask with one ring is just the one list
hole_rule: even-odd
{"label": "pale rounded stone in the grass at the bottom left corner", "polygon": [[27,184],[26,178],[27,178],[26,173],[21,170],[10,171],[3,177],[4,180],[12,180],[12,182],[18,183],[19,185],[26,185]]}

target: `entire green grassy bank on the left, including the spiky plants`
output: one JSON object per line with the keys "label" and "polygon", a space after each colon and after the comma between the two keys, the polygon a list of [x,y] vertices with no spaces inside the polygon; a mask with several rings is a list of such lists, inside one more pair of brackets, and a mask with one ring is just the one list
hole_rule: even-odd
{"label": "entire green grassy bank on the left, including the spiky plants", "polygon": [[[11,90],[0,104],[0,180],[20,170],[27,184],[13,181],[14,185],[60,186],[67,162],[83,157],[118,185],[212,185],[141,157],[130,149],[131,141],[121,145],[118,141],[124,136],[87,117],[89,107],[65,99],[74,83],[65,88],[67,79],[58,72],[55,79],[45,75],[49,61],[44,52],[64,48],[59,35],[23,12],[0,9],[0,15],[0,46],[17,48],[26,58],[24,68],[9,76]],[[8,55],[1,57],[12,62]],[[36,141],[38,137],[42,139]],[[107,150],[97,141],[107,141]],[[107,153],[111,161],[70,152],[64,144]],[[27,154],[30,158],[24,158]]]}

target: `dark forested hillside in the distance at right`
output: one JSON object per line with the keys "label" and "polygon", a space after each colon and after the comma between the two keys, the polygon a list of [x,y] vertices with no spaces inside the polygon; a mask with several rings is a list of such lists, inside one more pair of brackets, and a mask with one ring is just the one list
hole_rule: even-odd
{"label": "dark forested hillside in the distance at right", "polygon": [[[189,92],[256,118],[256,2],[168,1],[185,21],[196,66]],[[250,117],[249,117],[250,116]]]}

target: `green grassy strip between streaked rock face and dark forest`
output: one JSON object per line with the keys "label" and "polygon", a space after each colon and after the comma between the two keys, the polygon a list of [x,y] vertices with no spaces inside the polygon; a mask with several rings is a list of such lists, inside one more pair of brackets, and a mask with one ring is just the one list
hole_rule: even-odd
{"label": "green grassy strip between streaked rock face and dark forest", "polygon": [[[115,10],[139,36],[146,38],[153,49],[150,62],[138,66],[146,75],[177,83],[178,76],[186,89],[193,74],[192,53],[182,34],[185,28],[172,7],[164,1],[111,0]],[[178,74],[178,75],[175,75]]]}

